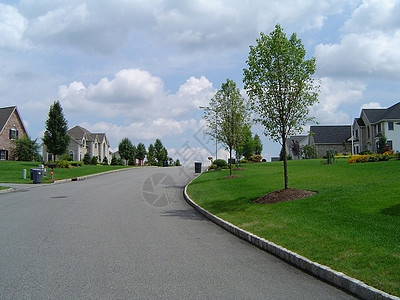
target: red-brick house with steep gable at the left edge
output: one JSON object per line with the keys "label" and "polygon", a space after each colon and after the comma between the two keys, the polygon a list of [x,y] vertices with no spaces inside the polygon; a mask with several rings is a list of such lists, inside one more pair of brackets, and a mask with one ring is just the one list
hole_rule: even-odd
{"label": "red-brick house with steep gable at the left edge", "polygon": [[0,108],[0,160],[14,160],[14,141],[25,135],[28,133],[17,107]]}

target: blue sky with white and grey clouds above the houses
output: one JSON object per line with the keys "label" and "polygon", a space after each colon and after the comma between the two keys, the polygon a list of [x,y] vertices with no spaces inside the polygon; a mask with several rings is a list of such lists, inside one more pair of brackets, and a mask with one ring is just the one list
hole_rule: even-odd
{"label": "blue sky with white and grey clouds above the houses", "polygon": [[199,106],[227,78],[243,88],[260,32],[297,34],[321,82],[312,115],[350,124],[400,101],[399,16],[396,0],[3,0],[0,106],[16,105],[33,139],[59,100],[69,127],[105,132],[114,150],[160,138],[174,159],[204,160],[215,144]]}

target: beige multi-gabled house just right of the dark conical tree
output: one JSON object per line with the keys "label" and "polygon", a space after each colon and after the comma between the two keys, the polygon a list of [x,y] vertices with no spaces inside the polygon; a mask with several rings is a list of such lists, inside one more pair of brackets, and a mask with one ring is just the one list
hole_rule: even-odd
{"label": "beige multi-gabled house just right of the dark conical tree", "polygon": [[[75,126],[67,131],[70,137],[68,145],[68,154],[72,160],[83,160],[86,153],[90,157],[97,156],[99,162],[103,162],[107,158],[108,163],[111,162],[110,143],[105,133],[91,133],[89,130]],[[46,161],[52,160],[51,154],[43,150],[43,156]]]}

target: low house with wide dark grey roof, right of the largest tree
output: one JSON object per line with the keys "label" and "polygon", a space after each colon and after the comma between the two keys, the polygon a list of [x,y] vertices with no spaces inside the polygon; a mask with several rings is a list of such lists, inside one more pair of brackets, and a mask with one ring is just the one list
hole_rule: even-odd
{"label": "low house with wide dark grey roof, right of the largest tree", "polygon": [[328,150],[351,153],[351,126],[310,126],[309,145],[315,147],[317,157],[323,157]]}

